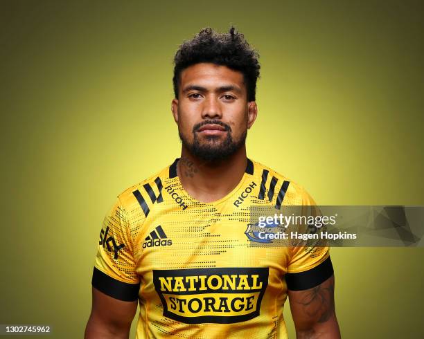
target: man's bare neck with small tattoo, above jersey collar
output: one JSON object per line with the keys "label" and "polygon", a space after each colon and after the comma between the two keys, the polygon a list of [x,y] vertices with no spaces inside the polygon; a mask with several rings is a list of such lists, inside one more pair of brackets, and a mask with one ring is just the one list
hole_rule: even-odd
{"label": "man's bare neck with small tattoo, above jersey collar", "polygon": [[246,147],[223,161],[206,162],[182,147],[177,174],[184,190],[204,203],[217,201],[240,183],[247,166]]}

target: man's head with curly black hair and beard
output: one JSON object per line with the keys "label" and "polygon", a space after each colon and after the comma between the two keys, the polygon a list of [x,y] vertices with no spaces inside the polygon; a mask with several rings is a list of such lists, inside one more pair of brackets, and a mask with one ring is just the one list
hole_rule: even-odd
{"label": "man's head with curly black hair and beard", "polygon": [[175,55],[172,111],[183,147],[205,161],[245,146],[257,107],[258,53],[231,28],[204,28]]}

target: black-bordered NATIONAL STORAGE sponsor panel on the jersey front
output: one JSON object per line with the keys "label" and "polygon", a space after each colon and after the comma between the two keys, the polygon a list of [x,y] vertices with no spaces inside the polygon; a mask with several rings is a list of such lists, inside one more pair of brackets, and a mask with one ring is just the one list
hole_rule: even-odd
{"label": "black-bordered NATIONAL STORAGE sponsor panel on the jersey front", "polygon": [[228,324],[260,313],[269,268],[153,270],[164,316],[186,324]]}

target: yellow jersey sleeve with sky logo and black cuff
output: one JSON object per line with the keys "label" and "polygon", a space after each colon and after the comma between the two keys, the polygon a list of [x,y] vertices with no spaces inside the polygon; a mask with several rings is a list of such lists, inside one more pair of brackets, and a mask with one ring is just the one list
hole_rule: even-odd
{"label": "yellow jersey sleeve with sky logo and black cuff", "polygon": [[119,198],[100,230],[91,284],[118,300],[134,301],[139,295],[140,281],[135,271],[130,225]]}

